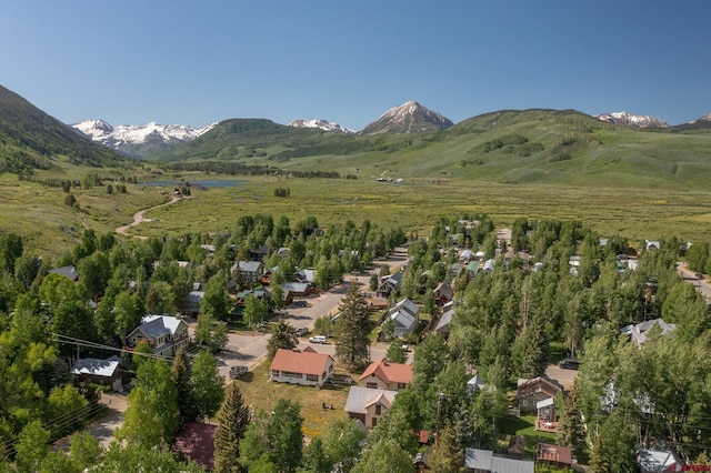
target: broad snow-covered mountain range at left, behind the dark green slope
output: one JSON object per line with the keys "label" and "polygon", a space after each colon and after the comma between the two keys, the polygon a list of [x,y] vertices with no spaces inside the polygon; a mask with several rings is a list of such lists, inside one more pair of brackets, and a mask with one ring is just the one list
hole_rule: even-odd
{"label": "broad snow-covered mountain range at left, behind the dark green slope", "polygon": [[141,150],[146,147],[154,149],[190,141],[212,130],[216,124],[217,122],[196,128],[186,124],[159,124],[152,121],[143,127],[121,124],[114,128],[103,120],[84,120],[72,127],[107,148],[126,154],[142,155]]}

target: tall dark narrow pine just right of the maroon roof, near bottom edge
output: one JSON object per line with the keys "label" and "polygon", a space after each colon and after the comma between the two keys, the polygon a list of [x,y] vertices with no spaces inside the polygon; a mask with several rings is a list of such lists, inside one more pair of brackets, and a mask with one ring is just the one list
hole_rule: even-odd
{"label": "tall dark narrow pine just right of the maroon roof, near bottom edge", "polygon": [[232,382],[227,386],[224,401],[217,415],[218,429],[214,433],[214,471],[239,472],[240,440],[249,424],[249,412],[239,386]]}

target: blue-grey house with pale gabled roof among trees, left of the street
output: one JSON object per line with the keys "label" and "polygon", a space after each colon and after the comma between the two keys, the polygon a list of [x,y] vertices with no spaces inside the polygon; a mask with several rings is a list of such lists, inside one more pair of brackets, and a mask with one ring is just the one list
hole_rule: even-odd
{"label": "blue-grey house with pale gabled roof among trees, left of the street", "polygon": [[128,345],[136,348],[140,342],[148,342],[153,353],[163,356],[174,356],[178,350],[188,346],[188,324],[180,319],[163,315],[147,315],[141,324],[127,336]]}

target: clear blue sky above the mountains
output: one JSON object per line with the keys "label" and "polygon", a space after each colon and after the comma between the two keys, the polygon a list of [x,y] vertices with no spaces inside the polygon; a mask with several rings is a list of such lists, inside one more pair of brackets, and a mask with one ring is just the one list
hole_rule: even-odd
{"label": "clear blue sky above the mountains", "polygon": [[711,1],[6,0],[0,84],[57,119],[361,130],[408,100],[711,112]]}

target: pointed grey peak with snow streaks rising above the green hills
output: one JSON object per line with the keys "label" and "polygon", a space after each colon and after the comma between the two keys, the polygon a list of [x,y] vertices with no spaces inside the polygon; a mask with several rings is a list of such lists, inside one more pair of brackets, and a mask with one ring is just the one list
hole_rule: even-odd
{"label": "pointed grey peak with snow streaks rising above the green hills", "polygon": [[410,100],[400,107],[388,110],[378,120],[365,127],[360,134],[419,133],[444,130],[452,125],[454,123],[450,119]]}

